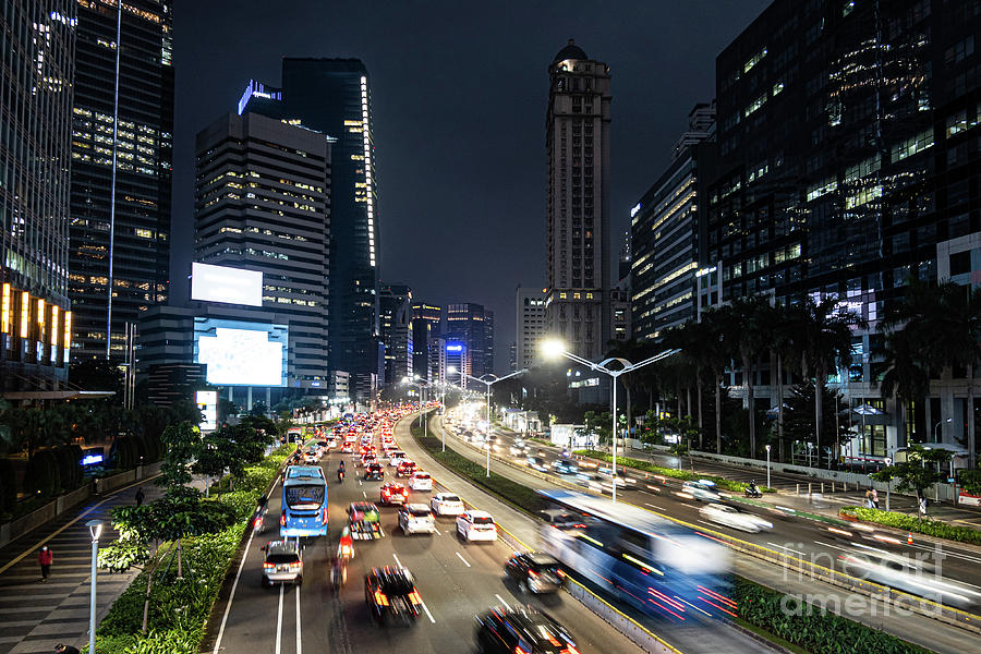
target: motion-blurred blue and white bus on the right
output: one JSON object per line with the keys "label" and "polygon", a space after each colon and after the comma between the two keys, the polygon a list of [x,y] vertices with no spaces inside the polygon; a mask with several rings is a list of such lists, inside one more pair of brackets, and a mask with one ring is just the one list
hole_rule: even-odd
{"label": "motion-blurred blue and white bus on the right", "polygon": [[631,505],[576,491],[538,493],[546,511],[574,518],[541,526],[544,549],[567,571],[669,621],[736,616],[729,552],[713,538]]}

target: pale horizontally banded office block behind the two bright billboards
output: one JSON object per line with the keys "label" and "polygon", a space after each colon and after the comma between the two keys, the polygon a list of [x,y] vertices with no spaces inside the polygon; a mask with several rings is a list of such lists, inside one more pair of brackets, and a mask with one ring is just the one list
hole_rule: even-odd
{"label": "pale horizontally banded office block behind the two bright billboards", "polygon": [[288,385],[326,388],[331,140],[258,113],[197,134],[195,261],[263,274],[262,307],[215,318],[286,324]]}

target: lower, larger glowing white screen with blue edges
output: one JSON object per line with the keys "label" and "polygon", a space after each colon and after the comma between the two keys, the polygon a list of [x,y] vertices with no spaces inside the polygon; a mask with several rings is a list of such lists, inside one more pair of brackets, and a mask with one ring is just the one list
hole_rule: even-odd
{"label": "lower, larger glowing white screen with blue edges", "polygon": [[194,363],[215,386],[286,386],[286,325],[194,318]]}

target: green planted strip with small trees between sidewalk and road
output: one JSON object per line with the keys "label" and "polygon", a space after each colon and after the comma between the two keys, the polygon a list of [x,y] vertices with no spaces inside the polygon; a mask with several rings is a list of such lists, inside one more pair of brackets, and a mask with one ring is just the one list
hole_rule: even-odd
{"label": "green planted strip with small trees between sidewalk and road", "polygon": [[[141,569],[96,631],[99,654],[194,654],[247,519],[291,453],[265,456],[274,434],[251,424],[201,437],[191,423],[168,427],[159,483],[165,495],[113,509],[119,538],[99,550],[99,567]],[[193,461],[193,463],[192,463]],[[213,497],[190,485],[191,472],[218,476]],[[221,493],[226,487],[234,491]]]}

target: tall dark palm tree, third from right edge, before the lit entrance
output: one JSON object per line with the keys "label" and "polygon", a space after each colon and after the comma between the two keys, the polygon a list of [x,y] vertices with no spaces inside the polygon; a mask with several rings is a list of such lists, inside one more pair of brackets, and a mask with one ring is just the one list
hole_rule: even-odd
{"label": "tall dark palm tree, third from right edge, before the lit entrance", "polygon": [[[838,308],[836,296],[806,296],[797,306],[795,329],[800,337],[802,366],[814,372],[814,447],[821,465],[822,399],[828,372],[851,365],[851,329],[865,327],[858,314]],[[829,463],[831,461],[828,461]]]}

